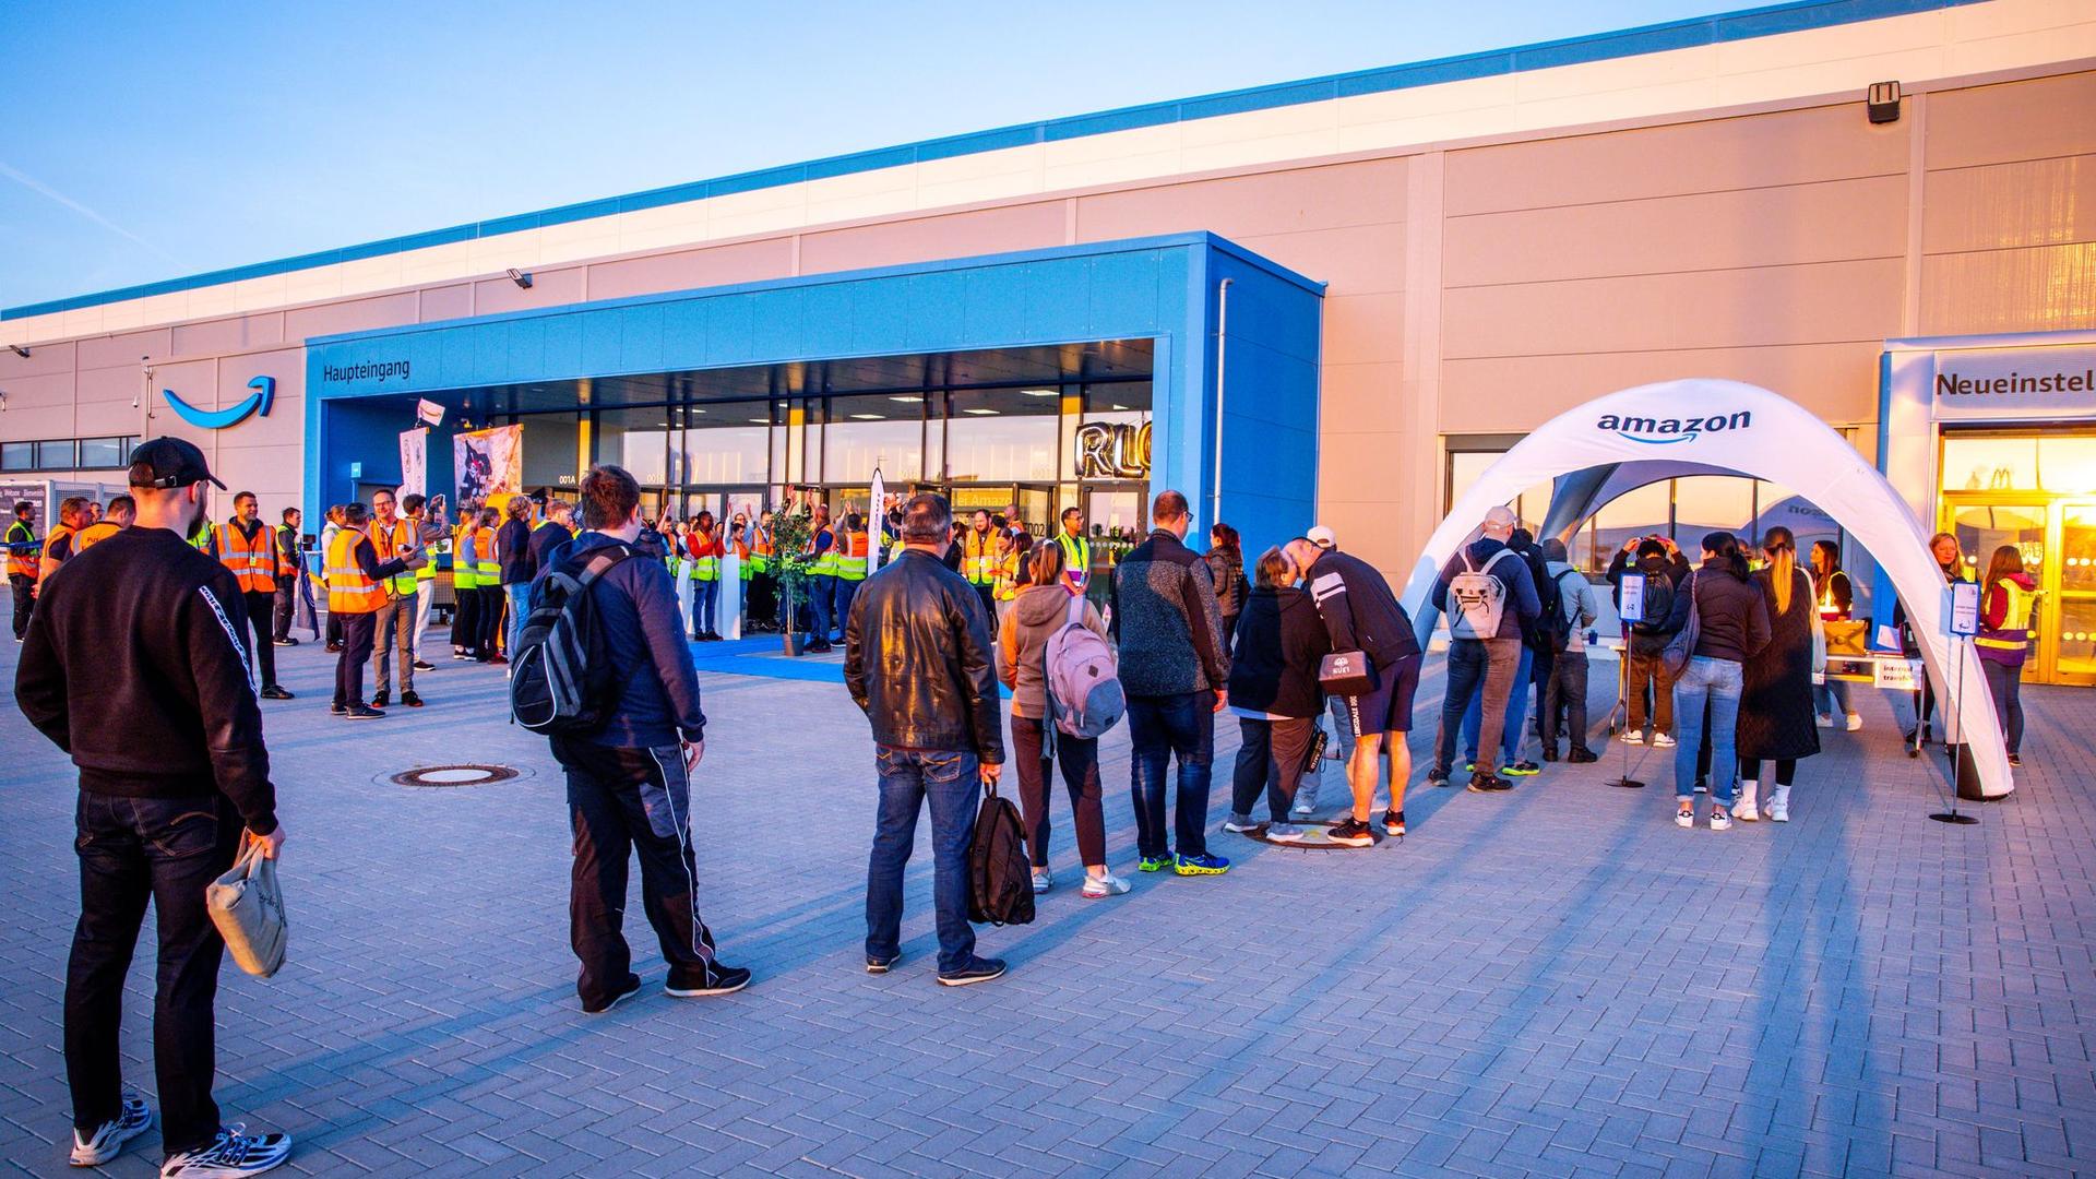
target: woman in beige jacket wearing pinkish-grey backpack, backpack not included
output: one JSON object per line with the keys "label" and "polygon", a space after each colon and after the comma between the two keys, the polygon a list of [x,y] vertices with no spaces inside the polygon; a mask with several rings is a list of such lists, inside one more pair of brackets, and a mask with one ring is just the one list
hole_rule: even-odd
{"label": "woman in beige jacket wearing pinkish-grey backpack, backpack not included", "polygon": [[[1054,887],[1048,871],[1048,762],[1063,766],[1071,820],[1077,824],[1077,858],[1084,860],[1084,896],[1121,896],[1128,881],[1107,871],[1107,814],[1098,795],[1098,738],[1050,734],[1048,640],[1071,621],[1107,638],[1107,623],[1063,577],[1063,545],[1033,545],[1027,560],[1029,585],[998,625],[998,678],[1012,690],[1012,764],[1019,770],[1019,810],[1027,824],[1027,856],[1033,862],[1033,892]],[[1079,608],[1082,606],[1082,608]]]}

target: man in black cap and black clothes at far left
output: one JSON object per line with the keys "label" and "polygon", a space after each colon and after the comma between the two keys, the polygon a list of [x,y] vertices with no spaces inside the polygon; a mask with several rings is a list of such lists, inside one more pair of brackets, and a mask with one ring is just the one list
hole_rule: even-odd
{"label": "man in black cap and black clothes at far left", "polygon": [[[153,1066],[170,1177],[258,1175],[291,1154],[279,1133],[228,1129],[212,1099],[224,942],[203,889],[243,841],[277,858],[277,791],[249,673],[241,585],[197,552],[203,451],[132,451],[138,518],[52,573],[38,596],[15,701],[80,768],[80,925],[65,973],[73,1166],[101,1166],[153,1124],[124,1089],[124,976],[151,900],[159,925]],[[109,636],[128,636],[109,642]]]}

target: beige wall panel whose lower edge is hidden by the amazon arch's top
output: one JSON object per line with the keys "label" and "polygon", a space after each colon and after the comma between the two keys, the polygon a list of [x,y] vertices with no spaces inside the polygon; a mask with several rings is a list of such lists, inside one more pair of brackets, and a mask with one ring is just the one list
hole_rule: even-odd
{"label": "beige wall panel whose lower edge is hidden by the amazon arch's top", "polygon": [[1444,434],[1528,432],[1620,388],[1719,378],[1759,384],[1830,422],[1878,415],[1876,340],[1786,348],[1702,348],[1574,357],[1494,357],[1442,365]]}

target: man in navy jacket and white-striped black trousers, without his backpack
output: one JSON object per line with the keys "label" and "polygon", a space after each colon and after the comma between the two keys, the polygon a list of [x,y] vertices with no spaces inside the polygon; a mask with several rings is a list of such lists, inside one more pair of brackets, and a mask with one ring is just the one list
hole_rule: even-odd
{"label": "man in navy jacket and white-striped black trousers, without his backpack", "polygon": [[[660,556],[641,556],[641,533],[652,529],[641,524],[633,474],[595,466],[581,493],[585,531],[553,548],[541,577],[553,569],[581,575],[597,556],[610,560],[587,594],[620,688],[597,730],[553,736],[574,831],[568,942],[583,963],[574,990],[583,1011],[597,1015],[641,988],[620,929],[627,860],[637,852],[641,906],[669,961],[662,994],[732,994],[750,984],[750,971],[719,961],[698,917],[692,770],[706,755],[706,713],[677,590]],[[631,554],[618,556],[620,548]]]}

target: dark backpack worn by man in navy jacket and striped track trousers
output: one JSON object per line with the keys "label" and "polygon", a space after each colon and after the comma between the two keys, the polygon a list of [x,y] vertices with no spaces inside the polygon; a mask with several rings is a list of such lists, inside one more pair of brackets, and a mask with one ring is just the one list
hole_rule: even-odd
{"label": "dark backpack worn by man in navy jacket and striped track trousers", "polygon": [[635,556],[631,545],[589,550],[585,560],[564,558],[532,583],[530,613],[509,652],[516,724],[547,736],[604,728],[623,676],[589,587],[629,556]]}

